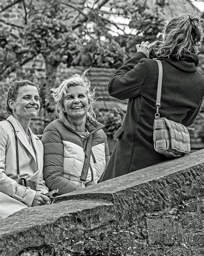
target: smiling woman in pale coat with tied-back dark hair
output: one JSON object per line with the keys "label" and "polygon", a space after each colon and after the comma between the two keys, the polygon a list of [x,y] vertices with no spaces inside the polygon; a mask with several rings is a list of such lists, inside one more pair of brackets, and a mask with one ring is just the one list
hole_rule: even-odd
{"label": "smiling woman in pale coat with tied-back dark hair", "polygon": [[[0,122],[0,218],[49,202],[43,195],[48,192],[43,145],[29,127],[40,110],[39,86],[29,80],[11,80],[6,103],[10,115]],[[29,186],[22,186],[20,179],[29,180]]]}

